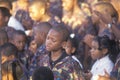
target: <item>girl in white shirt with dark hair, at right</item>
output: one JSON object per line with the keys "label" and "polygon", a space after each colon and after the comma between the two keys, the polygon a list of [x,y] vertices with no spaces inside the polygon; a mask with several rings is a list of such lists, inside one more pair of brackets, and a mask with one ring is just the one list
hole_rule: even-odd
{"label": "girl in white shirt with dark hair, at right", "polygon": [[105,71],[110,74],[118,54],[115,46],[115,41],[107,36],[96,37],[92,41],[91,57],[96,62],[92,66],[91,73],[88,73],[91,80],[97,80],[99,75],[105,74]]}

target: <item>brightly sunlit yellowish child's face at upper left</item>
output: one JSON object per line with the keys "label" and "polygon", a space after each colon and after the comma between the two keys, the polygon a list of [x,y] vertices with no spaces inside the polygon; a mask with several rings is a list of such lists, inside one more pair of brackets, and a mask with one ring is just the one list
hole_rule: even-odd
{"label": "brightly sunlit yellowish child's face at upper left", "polygon": [[32,20],[39,21],[41,19],[41,17],[43,16],[41,9],[42,7],[39,7],[38,5],[33,5],[29,7],[29,13]]}

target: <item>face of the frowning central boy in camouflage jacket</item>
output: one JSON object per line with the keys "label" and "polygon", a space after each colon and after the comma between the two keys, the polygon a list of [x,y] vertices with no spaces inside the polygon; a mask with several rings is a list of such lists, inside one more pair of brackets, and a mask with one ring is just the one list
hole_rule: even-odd
{"label": "face of the frowning central boy in camouflage jacket", "polygon": [[62,49],[62,38],[63,37],[59,32],[51,29],[46,38],[46,49],[48,51],[58,51]]}

